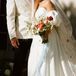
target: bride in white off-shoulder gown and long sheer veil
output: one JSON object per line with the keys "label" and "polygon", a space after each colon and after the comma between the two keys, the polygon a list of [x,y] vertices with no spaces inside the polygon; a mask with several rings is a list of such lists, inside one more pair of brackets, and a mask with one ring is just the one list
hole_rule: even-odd
{"label": "bride in white off-shoulder gown and long sheer veil", "polygon": [[76,46],[69,20],[56,0],[35,0],[35,19],[52,16],[55,27],[48,42],[34,35],[28,61],[28,76],[76,76]]}

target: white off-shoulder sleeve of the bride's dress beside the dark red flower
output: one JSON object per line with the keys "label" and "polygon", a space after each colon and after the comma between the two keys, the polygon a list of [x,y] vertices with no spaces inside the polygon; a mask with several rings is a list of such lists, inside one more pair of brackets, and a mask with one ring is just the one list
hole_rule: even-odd
{"label": "white off-shoulder sleeve of the bride's dress beside the dark red flower", "polygon": [[49,11],[47,13],[47,16],[52,16],[53,17],[53,21],[52,21],[53,25],[55,25],[57,27],[60,26],[61,20],[60,20],[58,12],[56,10]]}

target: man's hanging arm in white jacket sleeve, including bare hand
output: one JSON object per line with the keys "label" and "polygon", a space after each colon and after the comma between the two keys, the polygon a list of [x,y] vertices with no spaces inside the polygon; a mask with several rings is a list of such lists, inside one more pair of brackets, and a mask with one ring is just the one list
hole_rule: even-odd
{"label": "man's hanging arm in white jacket sleeve, including bare hand", "polygon": [[19,42],[16,38],[16,27],[15,27],[15,18],[16,18],[16,5],[14,0],[7,0],[6,5],[7,10],[7,29],[9,33],[9,38],[13,47],[18,48]]}

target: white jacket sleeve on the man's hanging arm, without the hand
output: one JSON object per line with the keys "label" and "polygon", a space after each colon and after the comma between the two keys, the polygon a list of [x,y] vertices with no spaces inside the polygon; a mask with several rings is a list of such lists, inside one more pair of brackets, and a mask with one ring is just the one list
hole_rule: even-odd
{"label": "white jacket sleeve on the man's hanging arm, without the hand", "polygon": [[10,39],[16,37],[15,31],[15,2],[14,0],[7,0],[6,11],[7,11],[7,29]]}

